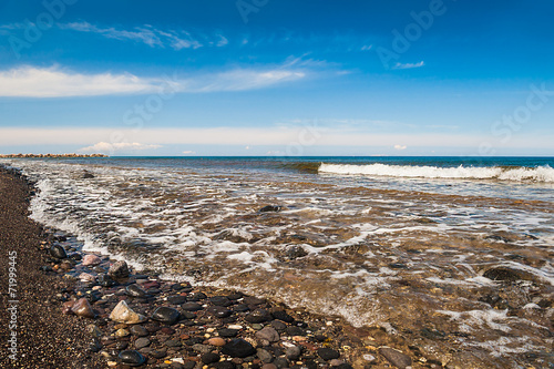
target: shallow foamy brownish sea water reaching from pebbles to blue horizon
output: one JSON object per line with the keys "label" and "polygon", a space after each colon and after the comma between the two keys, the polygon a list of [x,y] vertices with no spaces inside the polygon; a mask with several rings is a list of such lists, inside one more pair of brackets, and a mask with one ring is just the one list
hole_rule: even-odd
{"label": "shallow foamy brownish sea water reaching from pebbles to blue horizon", "polygon": [[382,326],[444,362],[554,365],[554,158],[0,163],[37,181],[32,217],[89,252]]}

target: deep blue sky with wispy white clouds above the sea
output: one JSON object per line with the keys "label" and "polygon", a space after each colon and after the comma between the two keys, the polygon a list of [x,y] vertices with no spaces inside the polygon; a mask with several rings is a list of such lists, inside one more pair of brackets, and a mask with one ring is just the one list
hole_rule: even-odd
{"label": "deep blue sky with wispy white clouds above the sea", "polygon": [[552,1],[2,1],[0,153],[554,155]]}

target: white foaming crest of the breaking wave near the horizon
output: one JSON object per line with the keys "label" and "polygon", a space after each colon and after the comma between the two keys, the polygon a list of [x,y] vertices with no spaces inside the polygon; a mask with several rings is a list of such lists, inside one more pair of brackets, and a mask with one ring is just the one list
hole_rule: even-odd
{"label": "white foaming crest of the breaking wave near the horizon", "polygon": [[413,178],[458,178],[458,180],[499,180],[510,182],[554,182],[554,168],[550,166],[504,168],[491,167],[438,167],[387,164],[326,164],[319,166],[320,173],[361,174],[372,176],[413,177]]}

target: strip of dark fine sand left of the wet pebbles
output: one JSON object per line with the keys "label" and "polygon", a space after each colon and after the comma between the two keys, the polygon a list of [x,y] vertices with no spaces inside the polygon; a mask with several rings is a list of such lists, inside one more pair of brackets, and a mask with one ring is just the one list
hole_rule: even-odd
{"label": "strip of dark fine sand left of the wet pebbles", "polygon": [[[40,225],[29,219],[27,183],[0,168],[0,368],[104,368],[86,353],[86,321],[62,315],[55,301],[64,281],[40,270]],[[9,253],[17,253],[17,360],[10,358]],[[12,253],[13,255],[13,253]]]}

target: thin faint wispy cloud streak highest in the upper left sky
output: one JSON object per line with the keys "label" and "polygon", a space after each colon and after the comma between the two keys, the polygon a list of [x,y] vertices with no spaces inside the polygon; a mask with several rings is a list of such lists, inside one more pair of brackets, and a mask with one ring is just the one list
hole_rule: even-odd
{"label": "thin faint wispy cloud streak highest in the upper left sky", "polygon": [[95,25],[89,22],[73,22],[59,24],[59,27],[64,30],[95,33],[107,39],[144,43],[151,48],[182,50],[198,49],[202,47],[222,48],[228,44],[227,38],[220,32],[193,34],[193,32],[186,30],[161,30],[150,24],[132,29],[121,29]]}

